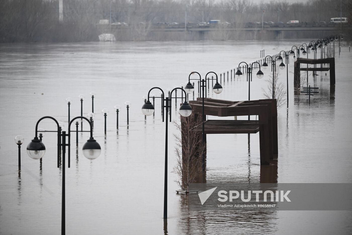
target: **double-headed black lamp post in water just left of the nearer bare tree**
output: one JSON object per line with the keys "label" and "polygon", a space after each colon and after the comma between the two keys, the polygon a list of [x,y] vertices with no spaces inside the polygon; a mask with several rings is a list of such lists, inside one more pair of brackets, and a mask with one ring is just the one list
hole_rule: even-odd
{"label": "double-headed black lamp post in water just left of the nearer bare tree", "polygon": [[[179,111],[180,114],[184,117],[188,117],[192,113],[192,107],[187,103],[186,101],[186,91],[183,90],[182,88],[174,88],[170,92],[170,99],[169,96],[165,96],[164,91],[161,88],[158,87],[153,87],[152,89],[149,90],[148,92],[148,100],[143,104],[142,106],[142,113],[146,116],[150,116],[154,113],[154,106],[153,104],[149,101],[150,98],[150,91],[153,89],[159,89],[162,92],[162,97],[155,97],[155,98],[161,98],[163,101],[163,109],[165,108],[166,111],[166,120],[165,120],[165,170],[164,170],[164,219],[168,217],[168,110],[171,108],[171,99],[175,98],[172,97],[172,92],[180,89],[181,92],[184,92],[184,103],[181,105]],[[165,105],[164,105],[165,103]],[[171,110],[171,109],[170,109]],[[163,112],[163,121],[164,121],[164,112]],[[170,115],[170,122],[171,122],[171,115]]]}

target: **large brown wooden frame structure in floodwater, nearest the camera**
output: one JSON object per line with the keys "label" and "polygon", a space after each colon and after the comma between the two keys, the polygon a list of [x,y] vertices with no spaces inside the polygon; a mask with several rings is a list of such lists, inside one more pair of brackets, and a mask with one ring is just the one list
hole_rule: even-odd
{"label": "large brown wooden frame structure in floodwater, nearest the camera", "polygon": [[[191,118],[196,120],[197,115],[202,115],[202,98],[189,103],[194,113]],[[259,132],[260,165],[269,165],[270,159],[277,156],[276,99],[227,101],[205,98],[204,114],[219,117],[258,115],[258,120],[206,120],[205,136],[207,134],[254,134]],[[184,118],[181,122],[184,122]],[[202,139],[202,125],[199,125],[195,131],[199,132],[199,138]]]}

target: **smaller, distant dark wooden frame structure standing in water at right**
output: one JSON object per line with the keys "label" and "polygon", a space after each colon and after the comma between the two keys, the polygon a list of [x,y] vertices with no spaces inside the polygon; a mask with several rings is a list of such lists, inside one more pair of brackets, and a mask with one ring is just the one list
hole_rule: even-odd
{"label": "smaller, distant dark wooden frame structure standing in water at right", "polygon": [[[322,65],[328,64],[329,67],[301,68],[301,64]],[[294,88],[297,94],[301,89],[301,71],[330,71],[330,86],[335,85],[335,58],[325,59],[304,59],[298,58],[294,67]]]}

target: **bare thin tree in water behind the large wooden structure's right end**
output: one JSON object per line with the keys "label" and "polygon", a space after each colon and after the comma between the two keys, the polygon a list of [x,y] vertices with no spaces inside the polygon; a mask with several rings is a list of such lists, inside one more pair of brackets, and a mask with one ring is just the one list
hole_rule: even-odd
{"label": "bare thin tree in water behind the large wooden structure's right end", "polygon": [[268,83],[267,90],[262,88],[263,95],[267,99],[272,98],[272,84],[274,83],[274,99],[276,99],[277,102],[277,108],[280,108],[283,104],[286,103],[285,97],[286,97],[286,86],[282,82],[278,82],[280,72],[278,70],[278,66],[275,66],[274,68],[274,79],[272,75],[269,75],[269,79],[265,79],[265,81]]}

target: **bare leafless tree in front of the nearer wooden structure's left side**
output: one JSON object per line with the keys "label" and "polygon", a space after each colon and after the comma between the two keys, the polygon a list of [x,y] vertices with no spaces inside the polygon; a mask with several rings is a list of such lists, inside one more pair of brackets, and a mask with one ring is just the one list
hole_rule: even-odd
{"label": "bare leafless tree in front of the nearer wooden structure's left side", "polygon": [[201,116],[192,114],[182,118],[183,125],[174,121],[177,131],[176,139],[176,165],[172,172],[176,173],[176,183],[183,189],[188,190],[189,184],[194,182],[201,171],[202,155],[206,151],[206,145],[202,145],[199,137],[199,126],[202,124]]}

